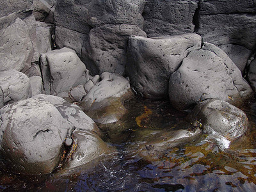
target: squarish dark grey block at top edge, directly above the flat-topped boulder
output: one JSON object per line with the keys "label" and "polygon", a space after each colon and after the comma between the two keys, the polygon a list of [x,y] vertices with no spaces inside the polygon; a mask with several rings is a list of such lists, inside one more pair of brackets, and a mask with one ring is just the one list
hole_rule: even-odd
{"label": "squarish dark grey block at top edge, directly above the flat-topped boulder", "polygon": [[149,0],[143,12],[143,29],[150,37],[193,33],[193,16],[197,8],[198,0]]}

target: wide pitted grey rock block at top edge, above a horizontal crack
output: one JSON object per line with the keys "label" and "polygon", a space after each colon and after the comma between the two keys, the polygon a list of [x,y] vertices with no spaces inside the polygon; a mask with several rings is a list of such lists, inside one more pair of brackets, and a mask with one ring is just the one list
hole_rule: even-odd
{"label": "wide pitted grey rock block at top edge, above a horizontal crack", "polygon": [[142,28],[144,3],[144,0],[58,1],[54,19],[57,26],[80,33],[104,24],[133,24]]}

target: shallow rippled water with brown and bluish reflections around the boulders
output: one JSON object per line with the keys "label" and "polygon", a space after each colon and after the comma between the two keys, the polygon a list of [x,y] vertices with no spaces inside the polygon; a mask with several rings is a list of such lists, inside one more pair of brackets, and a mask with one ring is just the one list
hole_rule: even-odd
{"label": "shallow rippled water with brown and bluish reflections around the boulders", "polygon": [[[166,100],[132,100],[115,124],[99,126],[103,139],[116,148],[71,175],[60,172],[24,177],[2,172],[1,191],[256,191],[256,104],[243,108],[250,131],[220,150],[206,135],[141,156],[140,147],[154,134],[168,135],[186,113]],[[182,125],[182,124],[181,124]],[[152,157],[152,158],[151,158]]]}

